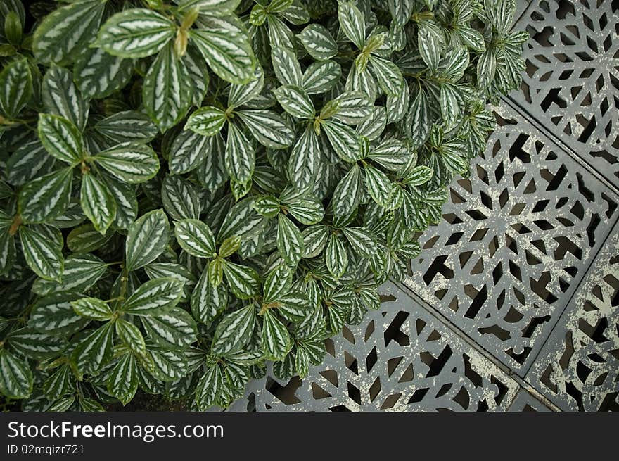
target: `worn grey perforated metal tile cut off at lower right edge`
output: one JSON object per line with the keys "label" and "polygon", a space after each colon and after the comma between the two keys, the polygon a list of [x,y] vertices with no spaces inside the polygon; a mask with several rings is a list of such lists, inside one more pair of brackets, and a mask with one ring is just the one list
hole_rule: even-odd
{"label": "worn grey perforated metal tile cut off at lower right edge", "polygon": [[619,411],[619,227],[527,380],[563,410]]}

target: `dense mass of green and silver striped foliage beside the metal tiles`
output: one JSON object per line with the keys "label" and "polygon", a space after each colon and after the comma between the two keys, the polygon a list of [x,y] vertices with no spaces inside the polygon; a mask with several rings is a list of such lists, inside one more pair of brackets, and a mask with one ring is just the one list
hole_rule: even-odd
{"label": "dense mass of green and silver striped foliage beside the metal tiles", "polygon": [[519,84],[515,0],[0,4],[0,392],[226,407],[378,308]]}

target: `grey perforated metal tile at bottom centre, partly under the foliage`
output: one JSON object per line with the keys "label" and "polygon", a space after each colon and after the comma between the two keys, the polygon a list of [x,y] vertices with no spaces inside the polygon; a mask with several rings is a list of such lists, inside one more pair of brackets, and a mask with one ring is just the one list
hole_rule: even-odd
{"label": "grey perforated metal tile at bottom centre, partly under the foliage", "polygon": [[404,291],[333,339],[305,379],[253,381],[232,410],[506,410],[518,384]]}

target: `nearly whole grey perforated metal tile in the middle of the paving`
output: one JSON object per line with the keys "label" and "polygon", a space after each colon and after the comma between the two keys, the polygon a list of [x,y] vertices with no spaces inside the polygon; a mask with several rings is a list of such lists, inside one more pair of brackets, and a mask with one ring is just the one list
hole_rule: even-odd
{"label": "nearly whole grey perforated metal tile in the middle of the paving", "polygon": [[407,286],[521,376],[613,226],[617,196],[502,104]]}

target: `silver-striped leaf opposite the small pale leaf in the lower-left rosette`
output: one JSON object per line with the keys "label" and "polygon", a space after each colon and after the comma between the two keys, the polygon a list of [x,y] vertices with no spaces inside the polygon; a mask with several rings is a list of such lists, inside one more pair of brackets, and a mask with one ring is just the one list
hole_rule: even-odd
{"label": "silver-striped leaf opposite the small pale leaf in the lower-left rosette", "polygon": [[174,308],[183,294],[183,284],[169,277],[143,283],[127,301],[122,312],[132,315],[160,315]]}

